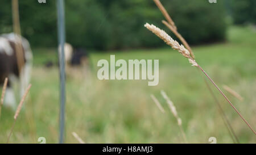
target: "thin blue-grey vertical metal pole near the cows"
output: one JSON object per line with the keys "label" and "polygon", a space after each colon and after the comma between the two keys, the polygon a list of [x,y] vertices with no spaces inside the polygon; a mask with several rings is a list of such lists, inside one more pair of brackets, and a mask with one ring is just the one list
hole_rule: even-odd
{"label": "thin blue-grey vertical metal pole near the cows", "polygon": [[59,37],[59,66],[60,66],[60,139],[59,143],[64,143],[65,129],[65,15],[64,15],[64,0],[57,0],[57,22],[58,22],[58,37]]}

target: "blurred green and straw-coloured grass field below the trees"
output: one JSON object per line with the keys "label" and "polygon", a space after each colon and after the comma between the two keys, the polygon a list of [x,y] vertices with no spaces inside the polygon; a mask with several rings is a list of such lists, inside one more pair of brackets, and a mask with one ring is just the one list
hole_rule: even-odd
{"label": "blurred green and straw-coloured grass field below the trees", "polygon": [[[149,32],[150,33],[150,32]],[[196,61],[221,87],[228,85],[244,99],[228,92],[231,102],[256,128],[256,30],[231,27],[225,43],[192,47]],[[155,39],[158,39],[156,36]],[[32,88],[27,103],[15,124],[11,143],[57,143],[59,137],[59,71],[45,68],[47,60],[57,60],[54,49],[34,49]],[[109,59],[159,59],[159,85],[147,81],[100,81],[97,62]],[[203,76],[177,51],[167,45],[161,49],[108,51],[90,54],[89,68],[73,69],[67,74],[66,143],[78,143],[76,132],[86,143],[184,143],[160,90],[166,91],[182,119],[189,143],[233,143]],[[214,89],[212,87],[212,89]],[[232,107],[214,89],[240,143],[256,143],[256,136]],[[160,112],[150,98],[154,94],[166,113]],[[6,143],[14,111],[3,108],[0,143]]]}

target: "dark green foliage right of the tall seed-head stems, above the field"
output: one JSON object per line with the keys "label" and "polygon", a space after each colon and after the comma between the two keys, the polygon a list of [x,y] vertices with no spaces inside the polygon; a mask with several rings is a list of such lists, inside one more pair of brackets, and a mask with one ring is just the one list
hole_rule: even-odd
{"label": "dark green foliage right of the tall seed-head stems, above the field", "polygon": [[209,43],[225,39],[224,4],[197,1],[163,1],[178,31],[189,44]]}

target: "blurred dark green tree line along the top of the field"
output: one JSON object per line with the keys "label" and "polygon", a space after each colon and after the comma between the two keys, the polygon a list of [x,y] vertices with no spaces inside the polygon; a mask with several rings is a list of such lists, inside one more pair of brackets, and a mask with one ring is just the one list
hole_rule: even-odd
{"label": "blurred dark green tree line along the top of the field", "polygon": [[[188,43],[201,44],[225,39],[225,6],[234,15],[235,23],[255,23],[255,7],[251,5],[255,5],[255,0],[226,1],[217,1],[217,4],[206,0],[161,2]],[[22,35],[33,47],[56,47],[56,1],[19,1],[19,12]],[[143,27],[146,22],[170,33],[152,0],[66,0],[65,17],[67,42],[75,47],[106,50],[164,45]],[[1,0],[0,19],[0,33],[11,32],[10,0]]]}

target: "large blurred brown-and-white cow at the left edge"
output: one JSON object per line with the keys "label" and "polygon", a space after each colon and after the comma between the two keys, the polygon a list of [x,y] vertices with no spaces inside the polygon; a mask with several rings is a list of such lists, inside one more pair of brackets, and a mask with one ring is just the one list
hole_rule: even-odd
{"label": "large blurred brown-and-white cow at the left edge", "polygon": [[13,83],[19,82],[20,97],[22,97],[28,82],[30,81],[30,72],[32,68],[32,52],[30,44],[24,37],[22,39],[23,66],[18,70],[15,44],[20,44],[20,38],[15,33],[6,33],[0,35],[0,85],[3,84],[6,77],[9,78],[7,83],[5,105],[11,108],[16,107],[16,99],[13,89]]}

